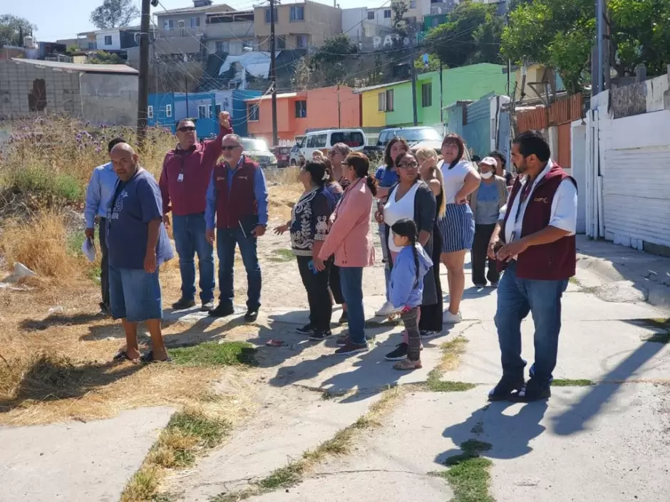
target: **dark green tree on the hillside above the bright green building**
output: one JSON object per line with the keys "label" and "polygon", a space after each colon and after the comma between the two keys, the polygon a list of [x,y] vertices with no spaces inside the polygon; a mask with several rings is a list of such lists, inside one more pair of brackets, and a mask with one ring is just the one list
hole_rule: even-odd
{"label": "dark green tree on the hillside above the bright green building", "polygon": [[448,22],[431,29],[426,36],[428,51],[450,68],[473,63],[500,63],[500,35],[504,21],[495,5],[460,3]]}

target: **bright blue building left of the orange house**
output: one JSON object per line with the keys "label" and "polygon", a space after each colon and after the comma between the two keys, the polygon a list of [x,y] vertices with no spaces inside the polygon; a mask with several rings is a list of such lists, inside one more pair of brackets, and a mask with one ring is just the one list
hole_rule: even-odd
{"label": "bright blue building left of the orange house", "polygon": [[197,137],[204,139],[218,132],[220,112],[230,113],[233,130],[247,135],[247,106],[245,99],[261,95],[259,90],[211,90],[206,93],[150,94],[148,123],[168,127],[175,132],[177,122],[185,118],[195,121]]}

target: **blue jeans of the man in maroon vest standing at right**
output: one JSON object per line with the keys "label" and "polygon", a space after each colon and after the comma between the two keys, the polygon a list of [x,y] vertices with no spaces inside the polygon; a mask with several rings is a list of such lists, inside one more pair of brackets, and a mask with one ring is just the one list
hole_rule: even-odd
{"label": "blue jeans of the man in maroon vest standing at right", "polygon": [[526,362],[521,358],[521,321],[530,312],[535,324],[535,363],[530,368],[530,377],[542,386],[550,385],[561,330],[561,297],[566,288],[567,279],[521,279],[517,278],[516,261],[507,267],[498,283],[498,311],[495,313],[505,377],[523,378]]}

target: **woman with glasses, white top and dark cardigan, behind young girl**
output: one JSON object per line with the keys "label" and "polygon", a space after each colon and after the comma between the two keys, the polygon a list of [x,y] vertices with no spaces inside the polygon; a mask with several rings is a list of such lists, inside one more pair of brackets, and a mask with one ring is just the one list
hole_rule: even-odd
{"label": "woman with glasses, white top and dark cardigan, behind young girl", "polygon": [[[383,208],[384,241],[388,245],[391,256],[391,268],[401,248],[393,241],[391,226],[401,219],[411,219],[418,231],[418,244],[423,246],[426,256],[433,254],[433,227],[435,226],[436,199],[431,187],[421,180],[416,157],[409,152],[396,157],[399,181],[391,187]],[[377,217],[379,215],[376,215]],[[431,267],[432,268],[432,267]],[[435,278],[429,270],[423,277],[423,298],[421,305],[438,303]],[[407,333],[405,333],[405,337]],[[386,360],[397,361],[407,357],[408,341],[398,344],[393,352],[386,355]]]}

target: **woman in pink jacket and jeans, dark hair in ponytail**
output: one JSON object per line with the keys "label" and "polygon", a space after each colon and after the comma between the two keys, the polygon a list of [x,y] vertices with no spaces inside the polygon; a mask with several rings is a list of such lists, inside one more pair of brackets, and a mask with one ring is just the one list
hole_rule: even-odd
{"label": "woman in pink jacket and jeans, dark hair in ponytail", "polygon": [[368,350],[365,338],[363,308],[363,268],[374,263],[370,236],[372,200],[377,192],[374,177],[368,174],[370,162],[360,152],[347,155],[342,173],[351,184],[331,216],[332,226],[319,252],[317,268],[322,260],[335,254],[340,268],[342,295],[349,311],[349,335],[337,340],[337,355],[349,355]]}

